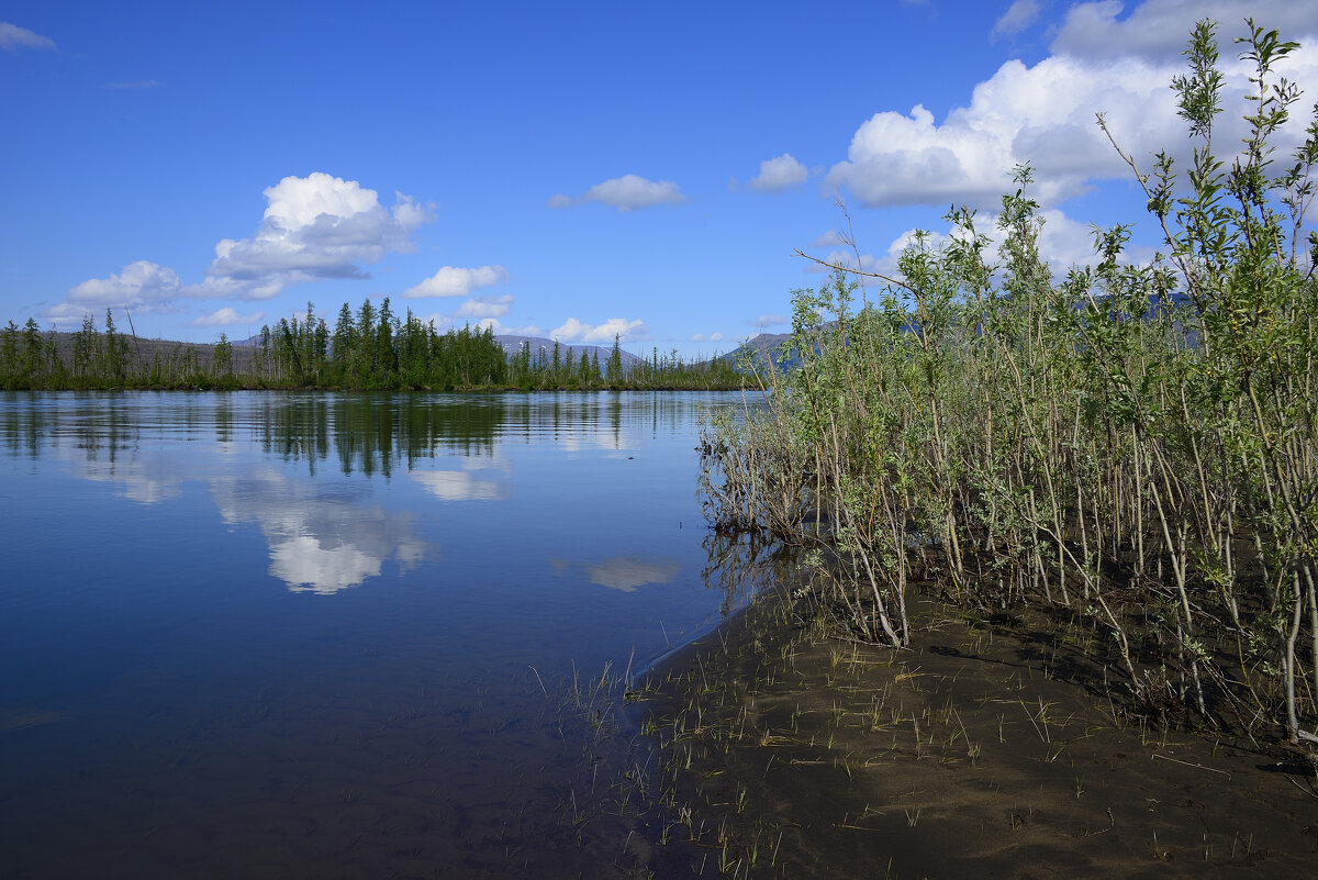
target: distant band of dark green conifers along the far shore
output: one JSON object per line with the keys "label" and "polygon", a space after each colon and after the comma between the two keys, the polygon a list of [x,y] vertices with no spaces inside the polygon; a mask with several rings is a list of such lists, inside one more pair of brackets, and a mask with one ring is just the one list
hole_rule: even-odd
{"label": "distant band of dark green conifers along the far shore", "polygon": [[[588,354],[589,352],[589,354]],[[596,346],[530,343],[509,357],[489,329],[439,333],[409,310],[395,315],[386,298],[353,312],[347,303],[331,329],[307,303],[301,319],[262,327],[253,345],[220,335],[214,345],[141,340],[124,333],[105,310],[104,331],[91,315],[75,333],[42,332],[34,319],[0,329],[0,389],[335,389],[361,391],[588,391],[724,390],[747,378],[728,358],[688,362],[676,352],[626,364],[619,340],[604,364]]]}

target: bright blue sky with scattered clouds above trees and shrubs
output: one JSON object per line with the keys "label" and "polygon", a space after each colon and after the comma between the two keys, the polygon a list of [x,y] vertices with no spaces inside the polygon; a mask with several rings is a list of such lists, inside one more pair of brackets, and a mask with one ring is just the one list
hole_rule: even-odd
{"label": "bright blue sky with scattered clouds above trees and shrubs", "polygon": [[1184,153],[1168,82],[1205,14],[1232,116],[1248,14],[1305,43],[1307,115],[1307,0],[11,1],[0,321],[127,307],[211,341],[390,296],[442,329],[708,354],[786,329],[822,281],[793,249],[854,261],[838,198],[882,270],[953,202],[991,224],[1019,161],[1054,266],[1090,224],[1143,221],[1147,256],[1094,115]]}

